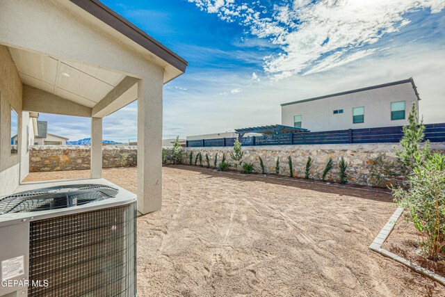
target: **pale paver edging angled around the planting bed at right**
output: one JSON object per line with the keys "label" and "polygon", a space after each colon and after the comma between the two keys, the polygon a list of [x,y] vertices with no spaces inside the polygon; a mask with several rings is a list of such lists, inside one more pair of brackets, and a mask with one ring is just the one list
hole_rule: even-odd
{"label": "pale paver edging angled around the planting bed at right", "polygon": [[403,257],[394,254],[393,252],[389,252],[388,250],[382,248],[383,243],[385,243],[389,234],[391,234],[392,230],[394,230],[394,225],[396,225],[398,218],[400,218],[402,214],[403,214],[403,207],[398,207],[396,211],[394,211],[394,214],[392,214],[391,218],[389,218],[385,226],[383,226],[382,230],[380,230],[379,234],[375,237],[374,241],[371,243],[369,248],[374,252],[378,252],[380,255],[393,259],[394,261],[397,261],[405,266],[408,266],[412,270],[421,273],[427,276],[428,278],[432,278],[432,280],[435,280],[445,286],[445,278],[442,277],[441,275],[433,273],[432,271],[426,268],[423,268],[413,262],[410,262],[409,260]]}

